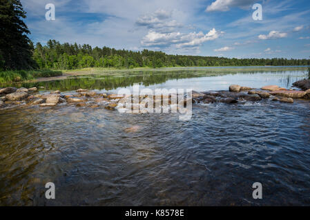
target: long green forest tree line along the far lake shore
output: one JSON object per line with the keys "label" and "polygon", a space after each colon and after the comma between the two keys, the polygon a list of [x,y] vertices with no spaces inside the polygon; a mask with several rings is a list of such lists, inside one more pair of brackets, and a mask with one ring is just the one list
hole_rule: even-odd
{"label": "long green forest tree line along the far lake shore", "polygon": [[169,55],[151,50],[135,52],[110,47],[93,48],[88,44],[61,44],[55,40],[48,41],[45,46],[37,43],[33,58],[40,69],[310,65],[309,59]]}

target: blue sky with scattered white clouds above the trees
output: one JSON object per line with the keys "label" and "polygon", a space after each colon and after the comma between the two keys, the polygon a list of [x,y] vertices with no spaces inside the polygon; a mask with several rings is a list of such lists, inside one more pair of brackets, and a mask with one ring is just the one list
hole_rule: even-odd
{"label": "blue sky with scattered white clouds above the trees", "polygon": [[[309,0],[21,0],[30,39],[229,58],[309,58]],[[46,20],[46,4],[55,20]],[[262,5],[262,20],[252,15]]]}

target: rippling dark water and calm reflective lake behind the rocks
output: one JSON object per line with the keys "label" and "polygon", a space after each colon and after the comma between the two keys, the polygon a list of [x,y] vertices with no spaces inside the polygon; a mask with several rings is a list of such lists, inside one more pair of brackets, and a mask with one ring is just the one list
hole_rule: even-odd
{"label": "rippling dark water and calm reflective lake behind the rocks", "polygon": [[[66,94],[122,87],[289,88],[300,70],[133,73],[30,83]],[[40,91],[42,92],[42,91]],[[132,128],[132,129],[128,129]],[[0,205],[310,205],[310,102],[193,104],[177,114],[19,107],[0,110]],[[56,199],[45,198],[45,184]],[[262,184],[253,199],[252,184]]]}

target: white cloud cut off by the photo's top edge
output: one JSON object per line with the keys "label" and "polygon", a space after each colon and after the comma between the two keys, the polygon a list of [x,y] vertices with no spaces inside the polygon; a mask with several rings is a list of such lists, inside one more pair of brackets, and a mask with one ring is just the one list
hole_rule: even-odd
{"label": "white cloud cut off by the photo's top edge", "polygon": [[232,7],[249,8],[253,0],[215,0],[206,8],[206,12],[226,12]]}

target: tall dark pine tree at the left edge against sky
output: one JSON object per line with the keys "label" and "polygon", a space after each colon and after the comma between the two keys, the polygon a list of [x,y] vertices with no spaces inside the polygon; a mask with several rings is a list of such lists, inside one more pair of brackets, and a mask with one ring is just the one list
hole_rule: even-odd
{"label": "tall dark pine tree at the left edge against sky", "polygon": [[20,0],[0,0],[0,67],[2,69],[30,69],[33,45],[23,22],[26,12]]}

